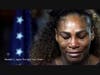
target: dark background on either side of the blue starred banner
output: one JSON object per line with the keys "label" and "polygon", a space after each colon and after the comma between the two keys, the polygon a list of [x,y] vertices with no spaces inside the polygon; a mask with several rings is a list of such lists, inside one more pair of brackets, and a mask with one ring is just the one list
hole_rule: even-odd
{"label": "dark background on either side of the blue starred banner", "polygon": [[[45,20],[46,17],[44,14],[48,14],[47,11],[41,9],[33,9],[31,10],[32,15],[32,39],[36,35],[37,31],[42,28],[41,25],[42,20]],[[4,61],[4,58],[7,57],[8,48],[10,44],[10,35],[12,32],[14,16],[16,14],[16,10],[0,10],[0,58],[1,64],[7,64]],[[45,16],[45,17],[44,17]],[[37,23],[38,22],[38,23]],[[40,23],[39,23],[40,22]]]}

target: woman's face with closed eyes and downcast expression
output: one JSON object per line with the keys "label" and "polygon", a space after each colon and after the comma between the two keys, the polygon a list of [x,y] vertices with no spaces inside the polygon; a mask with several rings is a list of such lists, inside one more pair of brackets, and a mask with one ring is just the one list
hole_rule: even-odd
{"label": "woman's face with closed eyes and downcast expression", "polygon": [[77,63],[88,55],[93,36],[82,16],[70,14],[63,17],[59,20],[55,31],[56,41],[66,61]]}

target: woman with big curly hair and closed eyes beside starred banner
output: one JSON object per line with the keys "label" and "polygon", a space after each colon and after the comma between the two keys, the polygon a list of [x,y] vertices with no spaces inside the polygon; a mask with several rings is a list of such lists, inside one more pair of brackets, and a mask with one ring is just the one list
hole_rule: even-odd
{"label": "woman with big curly hair and closed eyes beside starred banner", "polygon": [[97,65],[99,39],[88,10],[54,10],[32,45],[33,65]]}

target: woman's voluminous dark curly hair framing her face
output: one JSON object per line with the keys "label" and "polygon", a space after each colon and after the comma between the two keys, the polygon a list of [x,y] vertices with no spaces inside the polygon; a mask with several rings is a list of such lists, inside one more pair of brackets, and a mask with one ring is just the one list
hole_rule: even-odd
{"label": "woman's voluminous dark curly hair framing her face", "polygon": [[[55,28],[57,28],[57,23],[61,16],[67,13],[76,12],[78,14],[85,14],[91,18],[92,27],[94,27],[95,39],[91,42],[90,54],[99,55],[98,50],[99,38],[97,28],[95,26],[95,20],[92,15],[85,10],[55,10],[50,13],[53,18],[50,22],[38,33],[38,40],[34,41],[30,51],[30,57],[33,65],[46,64],[52,62],[55,58],[61,56],[60,48],[55,40]],[[43,59],[43,61],[35,61],[35,59]]]}

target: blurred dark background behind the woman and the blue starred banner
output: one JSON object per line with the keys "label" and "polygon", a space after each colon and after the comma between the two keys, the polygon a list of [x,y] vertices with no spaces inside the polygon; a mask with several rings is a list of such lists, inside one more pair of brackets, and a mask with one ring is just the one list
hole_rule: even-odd
{"label": "blurred dark background behind the woman and the blue starred banner", "polygon": [[[31,41],[32,39],[37,39],[36,33],[41,30],[46,23],[51,19],[49,12],[51,9],[32,9],[31,14]],[[100,10],[95,10],[99,17]],[[9,52],[9,46],[11,44],[10,39],[13,32],[14,18],[16,15],[16,10],[0,10],[0,58],[1,64],[8,64],[4,59],[9,57],[11,53]],[[95,15],[94,15],[95,17]],[[100,19],[96,24],[98,31],[100,33]],[[100,34],[99,34],[100,35]],[[14,63],[15,64],[15,63]]]}

